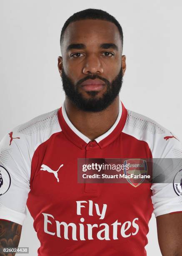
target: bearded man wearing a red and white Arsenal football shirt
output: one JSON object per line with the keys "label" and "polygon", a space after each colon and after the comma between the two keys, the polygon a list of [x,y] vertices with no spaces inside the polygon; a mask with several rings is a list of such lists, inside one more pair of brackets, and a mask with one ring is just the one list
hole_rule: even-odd
{"label": "bearded man wearing a red and white Arsenal football shirt", "polygon": [[102,10],[80,11],[65,22],[60,45],[62,107],[1,142],[2,246],[18,246],[27,202],[40,256],[144,256],[153,210],[162,255],[182,255],[182,197],[172,183],[77,182],[78,159],[182,156],[170,131],[119,99],[120,24]]}

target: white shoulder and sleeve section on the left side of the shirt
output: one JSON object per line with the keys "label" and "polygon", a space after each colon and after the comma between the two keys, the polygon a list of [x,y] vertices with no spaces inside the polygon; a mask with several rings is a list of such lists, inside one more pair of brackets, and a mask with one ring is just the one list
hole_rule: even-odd
{"label": "white shoulder and sleeve section on the left side of the shirt", "polygon": [[22,225],[30,191],[32,156],[40,144],[47,141],[53,133],[60,131],[57,110],[53,110],[14,128],[11,145],[9,134],[4,136],[0,142],[0,170],[7,170],[11,183],[7,192],[1,195],[3,186],[9,182],[9,176],[3,175],[3,184],[0,187],[0,219]]}

